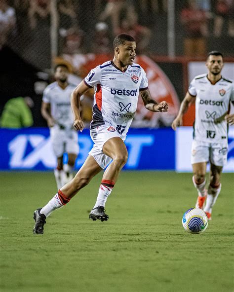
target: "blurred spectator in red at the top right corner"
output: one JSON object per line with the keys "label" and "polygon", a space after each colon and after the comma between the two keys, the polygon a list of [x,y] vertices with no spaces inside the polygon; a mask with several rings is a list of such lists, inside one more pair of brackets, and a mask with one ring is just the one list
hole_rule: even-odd
{"label": "blurred spectator in red at the top right corner", "polygon": [[234,1],[216,0],[214,8],[214,36],[221,37],[225,23],[227,23],[227,33],[229,36],[234,37]]}

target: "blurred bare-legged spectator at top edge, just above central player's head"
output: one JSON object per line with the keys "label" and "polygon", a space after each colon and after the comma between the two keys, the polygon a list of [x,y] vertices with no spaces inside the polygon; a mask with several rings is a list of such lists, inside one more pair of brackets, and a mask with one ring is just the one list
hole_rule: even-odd
{"label": "blurred bare-legged spectator at top edge, just above central player's head", "polygon": [[106,0],[107,4],[100,15],[101,21],[106,21],[111,17],[111,23],[113,28],[113,35],[117,35],[120,28],[120,16],[121,13],[125,14],[125,18],[129,21],[137,17],[137,13],[132,0]]}

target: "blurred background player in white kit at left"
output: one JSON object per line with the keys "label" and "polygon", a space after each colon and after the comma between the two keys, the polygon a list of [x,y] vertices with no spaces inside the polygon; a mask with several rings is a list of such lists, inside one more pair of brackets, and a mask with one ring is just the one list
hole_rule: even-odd
{"label": "blurred background player in white kit at left", "polygon": [[[78,154],[78,133],[73,127],[71,93],[76,85],[68,82],[69,70],[66,65],[55,67],[55,82],[49,84],[42,97],[41,114],[50,128],[53,151],[57,157],[54,170],[57,187],[73,179],[73,168]],[[63,155],[68,153],[68,162],[63,164]]]}

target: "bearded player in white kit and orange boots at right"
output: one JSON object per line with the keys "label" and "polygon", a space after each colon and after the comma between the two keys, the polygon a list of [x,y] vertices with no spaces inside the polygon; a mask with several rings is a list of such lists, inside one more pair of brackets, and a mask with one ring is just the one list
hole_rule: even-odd
{"label": "bearded player in white kit and orange boots at right", "polygon": [[[182,125],[182,117],[195,101],[194,140],[191,162],[193,183],[198,191],[196,208],[204,209],[211,219],[214,206],[221,191],[221,173],[227,162],[228,124],[234,124],[234,114],[230,114],[234,103],[234,83],[221,75],[223,55],[218,51],[208,53],[206,67],[208,74],[196,76],[186,93],[172,128]],[[206,189],[206,164],[210,162],[209,186]],[[206,205],[204,207],[206,199]]]}

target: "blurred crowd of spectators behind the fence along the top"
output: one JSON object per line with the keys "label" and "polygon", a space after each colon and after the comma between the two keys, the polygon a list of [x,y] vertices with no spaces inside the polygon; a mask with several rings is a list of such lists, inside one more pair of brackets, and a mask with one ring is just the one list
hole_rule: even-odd
{"label": "blurred crowd of spectators behind the fence along the top", "polygon": [[[1,3],[15,9],[19,32],[7,44],[40,69],[50,68],[51,1],[1,0]],[[69,46],[82,54],[106,52],[109,39],[124,32],[139,38],[139,54],[166,55],[167,8],[166,0],[94,0],[92,7],[85,0],[58,0],[58,53],[69,52]],[[193,58],[201,58],[214,44],[220,47],[224,37],[227,44],[224,53],[232,55],[233,16],[232,0],[176,1],[176,55],[190,57],[193,50]]]}

